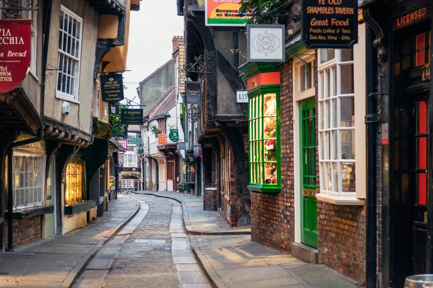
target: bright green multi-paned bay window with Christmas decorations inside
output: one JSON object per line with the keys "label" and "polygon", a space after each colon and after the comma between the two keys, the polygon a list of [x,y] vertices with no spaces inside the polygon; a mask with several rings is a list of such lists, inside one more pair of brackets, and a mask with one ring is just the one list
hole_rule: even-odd
{"label": "bright green multi-paned bay window with Christmas decorations inside", "polygon": [[249,186],[259,193],[281,191],[280,85],[248,92]]}

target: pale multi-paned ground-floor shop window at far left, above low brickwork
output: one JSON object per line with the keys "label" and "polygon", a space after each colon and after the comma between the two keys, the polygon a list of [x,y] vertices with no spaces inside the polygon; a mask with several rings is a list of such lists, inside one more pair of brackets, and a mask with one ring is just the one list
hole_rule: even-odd
{"label": "pale multi-paned ground-floor shop window at far left, above low brickwork", "polygon": [[13,153],[13,207],[39,206],[44,203],[45,155]]}

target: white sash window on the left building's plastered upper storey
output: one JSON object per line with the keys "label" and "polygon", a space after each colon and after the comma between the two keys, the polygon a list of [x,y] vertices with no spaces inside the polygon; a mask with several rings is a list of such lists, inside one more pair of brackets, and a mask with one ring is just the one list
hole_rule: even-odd
{"label": "white sash window on the left building's plastered upper storey", "polygon": [[78,102],[83,19],[61,6],[56,97]]}

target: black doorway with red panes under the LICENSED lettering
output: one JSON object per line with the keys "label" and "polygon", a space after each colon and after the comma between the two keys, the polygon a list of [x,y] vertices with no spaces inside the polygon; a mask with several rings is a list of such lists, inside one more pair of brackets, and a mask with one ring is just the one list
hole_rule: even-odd
{"label": "black doorway with red panes under the LICENSED lettering", "polygon": [[394,31],[390,117],[391,285],[427,272],[430,21]]}

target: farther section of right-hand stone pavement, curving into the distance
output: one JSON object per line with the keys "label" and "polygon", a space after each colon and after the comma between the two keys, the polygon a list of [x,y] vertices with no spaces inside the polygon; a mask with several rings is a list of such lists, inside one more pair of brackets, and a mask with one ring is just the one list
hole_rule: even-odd
{"label": "farther section of right-hand stone pavement, curving into the distance", "polygon": [[187,234],[239,235],[251,234],[251,226],[231,227],[217,211],[203,210],[203,196],[194,196],[174,191],[139,191],[137,194],[154,195],[174,199],[182,204]]}

